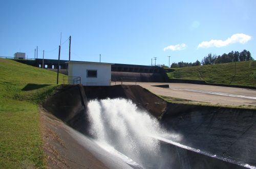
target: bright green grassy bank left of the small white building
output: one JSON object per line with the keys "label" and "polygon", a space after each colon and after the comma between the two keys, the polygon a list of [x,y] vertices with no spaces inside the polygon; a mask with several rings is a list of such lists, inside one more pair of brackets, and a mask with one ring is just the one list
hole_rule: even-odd
{"label": "bright green grassy bank left of the small white building", "polygon": [[38,103],[56,73],[0,58],[0,77],[0,168],[44,168]]}

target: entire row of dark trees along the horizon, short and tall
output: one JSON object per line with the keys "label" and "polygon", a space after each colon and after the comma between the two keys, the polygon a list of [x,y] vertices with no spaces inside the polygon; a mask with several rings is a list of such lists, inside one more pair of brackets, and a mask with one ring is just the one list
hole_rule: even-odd
{"label": "entire row of dark trees along the horizon, short and tall", "polygon": [[228,54],[224,53],[222,55],[216,55],[209,53],[207,56],[205,56],[202,61],[200,62],[197,60],[196,62],[188,63],[180,61],[178,63],[174,62],[170,67],[171,68],[183,68],[183,67],[189,67],[189,66],[200,66],[200,65],[214,65],[214,64],[224,64],[228,62],[233,61],[248,61],[248,60],[254,60],[251,57],[251,53],[247,50],[243,50],[242,52],[238,51],[231,51]]}

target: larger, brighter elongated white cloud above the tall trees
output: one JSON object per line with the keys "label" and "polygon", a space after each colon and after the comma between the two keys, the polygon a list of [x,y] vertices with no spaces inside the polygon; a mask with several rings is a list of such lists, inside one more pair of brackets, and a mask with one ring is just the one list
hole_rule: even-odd
{"label": "larger, brighter elongated white cloud above the tall trees", "polygon": [[210,40],[210,41],[202,41],[198,45],[197,48],[210,48],[210,47],[225,47],[229,44],[235,44],[235,43],[240,43],[240,44],[245,44],[247,41],[251,39],[251,36],[243,34],[243,33],[237,33],[233,34],[231,37],[227,38],[226,40]]}

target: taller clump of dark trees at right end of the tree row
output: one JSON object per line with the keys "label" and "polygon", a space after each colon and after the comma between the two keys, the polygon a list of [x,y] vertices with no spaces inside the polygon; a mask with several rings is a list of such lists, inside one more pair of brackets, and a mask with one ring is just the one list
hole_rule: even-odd
{"label": "taller clump of dark trees at right end of the tree row", "polygon": [[205,56],[201,64],[202,65],[214,65],[214,64],[224,64],[233,61],[248,61],[253,60],[251,57],[250,51],[243,50],[242,52],[231,51],[228,54],[224,53],[217,56],[216,54],[212,55],[211,53],[208,56]]}

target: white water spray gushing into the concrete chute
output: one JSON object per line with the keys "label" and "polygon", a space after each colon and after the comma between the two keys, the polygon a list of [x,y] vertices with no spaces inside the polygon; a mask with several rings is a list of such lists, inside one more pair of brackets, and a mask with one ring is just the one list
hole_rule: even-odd
{"label": "white water spray gushing into the concrete chute", "polygon": [[88,109],[90,132],[97,142],[113,147],[142,167],[161,167],[160,143],[154,136],[165,131],[156,118],[122,98],[92,100]]}

